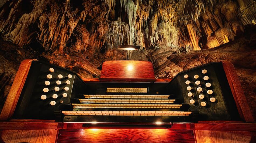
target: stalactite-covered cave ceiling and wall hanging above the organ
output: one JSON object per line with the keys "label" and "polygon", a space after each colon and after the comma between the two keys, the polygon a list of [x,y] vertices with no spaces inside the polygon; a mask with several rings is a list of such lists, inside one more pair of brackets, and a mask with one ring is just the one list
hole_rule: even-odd
{"label": "stalactite-covered cave ceiling and wall hanging above the organ", "polygon": [[255,22],[253,0],[2,0],[0,33],[39,52],[84,53],[119,44],[220,46]]}

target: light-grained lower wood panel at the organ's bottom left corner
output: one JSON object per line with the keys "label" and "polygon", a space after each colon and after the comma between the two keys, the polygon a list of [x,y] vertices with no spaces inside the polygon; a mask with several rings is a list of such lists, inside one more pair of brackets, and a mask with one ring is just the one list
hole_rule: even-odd
{"label": "light-grained lower wood panel at the organ's bottom left corner", "polygon": [[2,130],[2,142],[54,143],[58,130]]}

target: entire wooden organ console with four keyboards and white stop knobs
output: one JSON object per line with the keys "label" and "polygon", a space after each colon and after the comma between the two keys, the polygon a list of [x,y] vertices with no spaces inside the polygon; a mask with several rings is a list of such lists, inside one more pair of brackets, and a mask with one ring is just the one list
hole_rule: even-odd
{"label": "entire wooden organ console with four keyboards and white stop knobs", "polygon": [[146,61],[106,61],[98,79],[24,60],[0,115],[3,142],[255,142],[232,63],[155,79]]}

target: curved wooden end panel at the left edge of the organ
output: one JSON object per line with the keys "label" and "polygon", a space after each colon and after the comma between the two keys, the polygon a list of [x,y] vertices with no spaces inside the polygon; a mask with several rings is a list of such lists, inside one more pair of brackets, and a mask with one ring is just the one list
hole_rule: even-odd
{"label": "curved wooden end panel at the left edge of the organ", "polygon": [[13,115],[13,112],[16,108],[17,102],[20,97],[20,93],[25,84],[32,61],[37,61],[37,59],[25,59],[20,63],[19,69],[13,80],[12,87],[9,91],[9,94],[6,98],[3,110],[0,115],[1,121],[9,119]]}

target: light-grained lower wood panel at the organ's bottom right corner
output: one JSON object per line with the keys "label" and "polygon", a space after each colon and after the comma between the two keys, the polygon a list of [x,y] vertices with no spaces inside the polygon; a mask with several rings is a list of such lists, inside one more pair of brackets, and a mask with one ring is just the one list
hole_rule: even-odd
{"label": "light-grained lower wood panel at the organ's bottom right corner", "polygon": [[255,134],[249,131],[204,131],[195,130],[195,140],[198,143],[249,143],[256,142]]}

